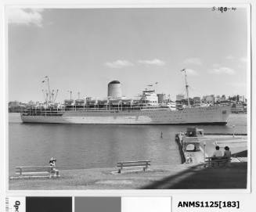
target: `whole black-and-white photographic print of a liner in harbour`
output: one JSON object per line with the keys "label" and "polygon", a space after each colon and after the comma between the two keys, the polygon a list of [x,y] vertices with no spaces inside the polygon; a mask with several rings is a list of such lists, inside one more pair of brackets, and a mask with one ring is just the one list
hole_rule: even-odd
{"label": "whole black-and-white photographic print of a liner in harbour", "polygon": [[250,11],[6,6],[7,189],[247,191]]}

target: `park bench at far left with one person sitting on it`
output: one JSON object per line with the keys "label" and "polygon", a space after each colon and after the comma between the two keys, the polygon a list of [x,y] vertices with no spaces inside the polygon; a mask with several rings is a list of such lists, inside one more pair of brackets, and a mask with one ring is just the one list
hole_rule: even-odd
{"label": "park bench at far left with one person sitting on it", "polygon": [[59,178],[59,171],[56,167],[40,166],[40,167],[16,167],[15,178]]}

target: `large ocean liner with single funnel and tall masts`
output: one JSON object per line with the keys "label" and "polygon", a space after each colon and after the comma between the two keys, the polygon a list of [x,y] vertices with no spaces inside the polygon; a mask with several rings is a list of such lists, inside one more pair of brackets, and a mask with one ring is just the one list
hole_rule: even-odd
{"label": "large ocean liner with single funnel and tall masts", "polygon": [[[186,70],[182,70],[185,73]],[[49,88],[49,77],[46,76]],[[20,113],[25,123],[56,124],[227,124],[230,106],[192,106],[186,82],[187,106],[159,102],[153,89],[146,89],[138,99],[121,97],[121,84],[108,84],[107,99],[70,99],[54,103],[53,92],[46,93],[45,106],[31,107]]]}

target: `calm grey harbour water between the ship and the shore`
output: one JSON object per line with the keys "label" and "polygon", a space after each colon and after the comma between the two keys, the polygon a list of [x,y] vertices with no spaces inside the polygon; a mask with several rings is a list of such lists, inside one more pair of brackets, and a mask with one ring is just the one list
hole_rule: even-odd
{"label": "calm grey harbour water between the ship and the shore", "polygon": [[[20,113],[9,113],[9,174],[16,166],[48,165],[52,156],[63,169],[115,167],[118,161],[128,160],[181,163],[175,134],[187,127],[23,124]],[[247,133],[247,114],[231,114],[225,126],[198,127],[205,132]]]}

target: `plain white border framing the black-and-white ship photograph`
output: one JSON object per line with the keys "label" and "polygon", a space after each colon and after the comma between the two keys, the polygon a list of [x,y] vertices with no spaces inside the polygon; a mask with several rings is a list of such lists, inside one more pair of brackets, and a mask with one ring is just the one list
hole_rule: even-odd
{"label": "plain white border framing the black-and-white ship photograph", "polygon": [[[14,3],[15,2],[15,3]],[[56,2],[56,1],[53,1]],[[68,2],[68,1],[66,1]],[[71,2],[71,1],[70,1]],[[251,96],[254,94],[254,73],[252,71],[252,65],[250,66],[249,64],[255,63],[254,61],[251,61],[252,56],[251,56],[251,19],[250,17],[252,16],[251,13],[251,4],[250,2],[242,2],[241,1],[233,1],[237,3],[232,3],[231,1],[227,3],[218,3],[214,1],[208,1],[207,4],[203,3],[203,1],[194,1],[196,2],[195,4],[188,3],[188,1],[182,1],[182,4],[180,3],[159,3],[159,4],[153,4],[153,3],[139,3],[139,4],[106,4],[106,3],[99,3],[99,4],[94,4],[92,1],[89,4],[84,4],[81,1],[78,1],[80,3],[77,3],[74,5],[73,3],[67,3],[65,5],[60,5],[59,2],[56,2],[56,5],[54,4],[40,4],[40,2],[37,1],[37,4],[22,4],[20,5],[20,2],[18,1],[12,1],[11,5],[5,4],[6,6],[14,6],[14,7],[25,7],[25,8],[198,8],[198,7],[205,7],[205,8],[211,8],[212,6],[218,5],[218,6],[236,6],[236,7],[245,7],[247,8],[247,58],[250,60],[247,62],[247,102],[251,102],[251,104],[248,104],[248,113],[247,113],[247,138],[248,138],[248,163],[247,163],[247,189],[150,189],[150,190],[9,190],[9,171],[8,171],[8,160],[9,160],[9,148],[8,148],[8,108],[7,108],[7,101],[8,101],[8,26],[7,26],[7,20],[6,16],[4,18],[4,25],[5,25],[5,38],[4,38],[4,46],[5,46],[5,52],[3,53],[3,63],[4,63],[4,111],[5,114],[3,115],[5,123],[3,124],[2,129],[4,129],[3,135],[4,135],[4,140],[5,145],[3,146],[2,149],[5,149],[5,160],[4,160],[4,167],[5,167],[5,185],[3,189],[5,190],[6,194],[8,196],[175,196],[179,194],[210,194],[210,195],[216,195],[216,194],[248,194],[251,193],[251,170],[252,170],[252,156],[251,156],[251,151],[252,151],[252,142],[251,142],[251,126],[252,123],[254,123],[254,110],[252,110],[255,106],[254,104],[254,99],[251,99]],[[180,1],[179,1],[180,2]],[[198,3],[200,2],[200,3]],[[31,2],[32,3],[32,2]],[[251,84],[252,82],[252,84]],[[254,129],[255,130],[255,129]],[[255,153],[255,151],[253,151]]]}

